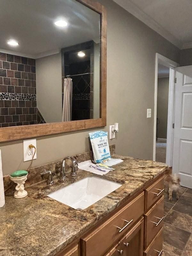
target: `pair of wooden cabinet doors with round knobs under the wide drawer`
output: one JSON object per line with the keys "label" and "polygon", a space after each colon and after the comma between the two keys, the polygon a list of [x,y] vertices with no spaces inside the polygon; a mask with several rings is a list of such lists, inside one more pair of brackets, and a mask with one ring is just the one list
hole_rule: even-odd
{"label": "pair of wooden cabinet doors with round knobs under the wide drawer", "polygon": [[143,256],[143,230],[141,218],[105,256]]}

